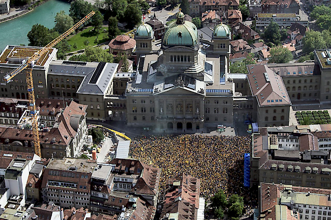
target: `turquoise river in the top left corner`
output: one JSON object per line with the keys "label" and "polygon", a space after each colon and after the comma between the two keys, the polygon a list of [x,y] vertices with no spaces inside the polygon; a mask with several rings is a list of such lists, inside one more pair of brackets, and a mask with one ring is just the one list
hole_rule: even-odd
{"label": "turquoise river in the top left corner", "polygon": [[55,26],[54,17],[60,11],[69,14],[70,4],[59,0],[49,0],[36,7],[32,12],[13,20],[0,23],[0,51],[8,44],[29,44],[26,35],[33,25],[39,23],[49,29]]}

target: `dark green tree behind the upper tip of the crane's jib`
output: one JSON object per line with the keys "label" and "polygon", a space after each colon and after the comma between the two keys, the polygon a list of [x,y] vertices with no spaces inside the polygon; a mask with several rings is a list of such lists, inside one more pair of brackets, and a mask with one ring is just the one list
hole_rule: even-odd
{"label": "dark green tree behind the upper tip of the crane's jib", "polygon": [[[72,17],[74,23],[77,23],[92,10],[95,10],[94,6],[91,3],[85,2],[84,0],[74,0],[71,2],[69,15]],[[88,26],[91,21],[87,20],[84,25]]]}

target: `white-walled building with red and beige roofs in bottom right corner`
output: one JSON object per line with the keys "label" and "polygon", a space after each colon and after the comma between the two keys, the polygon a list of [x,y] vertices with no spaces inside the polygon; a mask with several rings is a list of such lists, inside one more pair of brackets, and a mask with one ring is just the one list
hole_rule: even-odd
{"label": "white-walled building with red and beige roofs in bottom right corner", "polygon": [[330,193],[330,189],[261,183],[260,217],[279,219],[283,212],[285,219],[330,220]]}

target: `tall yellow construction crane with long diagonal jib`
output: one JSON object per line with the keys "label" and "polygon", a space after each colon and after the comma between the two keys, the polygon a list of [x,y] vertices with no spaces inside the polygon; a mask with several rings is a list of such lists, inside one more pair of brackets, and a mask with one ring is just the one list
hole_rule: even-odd
{"label": "tall yellow construction crane with long diagonal jib", "polygon": [[61,34],[56,39],[52,40],[50,43],[48,43],[46,46],[41,48],[38,52],[36,52],[32,57],[29,57],[27,60],[23,60],[22,64],[17,67],[16,69],[10,71],[5,77],[4,80],[7,83],[12,82],[13,78],[19,74],[24,69],[27,69],[26,74],[26,84],[27,84],[27,92],[29,94],[29,110],[30,110],[30,116],[32,118],[32,131],[33,131],[33,139],[34,139],[34,147],[35,147],[35,154],[37,154],[39,157],[41,157],[40,152],[40,141],[39,141],[39,130],[38,130],[38,118],[36,114],[36,101],[35,101],[35,91],[33,87],[33,77],[32,77],[32,69],[36,64],[36,61],[38,58],[40,58],[43,54],[45,54],[50,48],[55,46],[57,43],[59,43],[61,40],[66,38],[71,32],[76,30],[79,26],[81,26],[85,21],[90,19],[95,14],[94,11],[91,11],[88,15],[86,15],[84,18],[82,18],[80,21],[78,21],[73,27],[71,27],[68,31]]}

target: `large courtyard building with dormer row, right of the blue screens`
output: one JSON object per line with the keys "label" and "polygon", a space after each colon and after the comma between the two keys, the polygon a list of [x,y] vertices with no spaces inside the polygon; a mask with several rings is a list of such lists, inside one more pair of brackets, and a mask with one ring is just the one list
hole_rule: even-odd
{"label": "large courtyard building with dormer row, right of the blue screens", "polygon": [[329,155],[318,149],[317,138],[307,129],[290,126],[260,128],[259,132],[253,135],[251,186],[282,183],[331,187]]}

